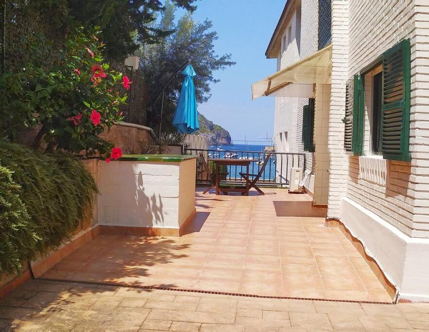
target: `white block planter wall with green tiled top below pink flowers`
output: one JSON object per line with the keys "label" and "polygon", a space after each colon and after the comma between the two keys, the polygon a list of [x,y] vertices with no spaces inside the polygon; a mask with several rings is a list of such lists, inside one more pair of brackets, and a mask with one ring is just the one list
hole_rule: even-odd
{"label": "white block planter wall with green tiled top below pink flowers", "polygon": [[101,232],[178,236],[180,227],[195,212],[195,165],[195,158],[180,162],[100,161]]}

